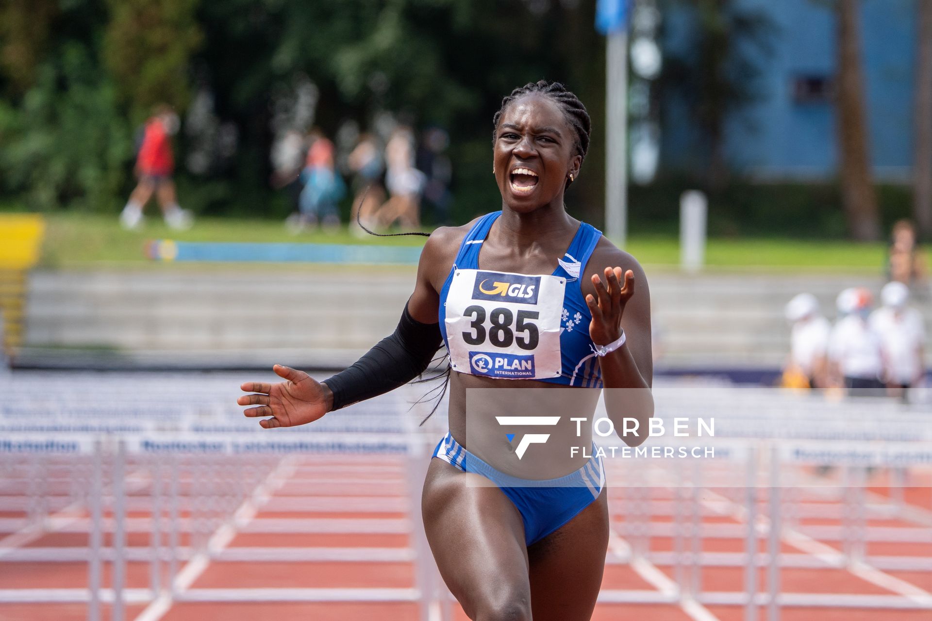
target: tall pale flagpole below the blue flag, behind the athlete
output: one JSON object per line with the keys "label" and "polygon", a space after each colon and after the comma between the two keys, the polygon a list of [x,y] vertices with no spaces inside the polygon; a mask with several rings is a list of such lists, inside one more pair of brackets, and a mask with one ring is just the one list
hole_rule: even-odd
{"label": "tall pale flagpole below the blue flag, behind the athlete", "polygon": [[628,35],[609,34],[605,93],[605,231],[624,249],[627,236]]}

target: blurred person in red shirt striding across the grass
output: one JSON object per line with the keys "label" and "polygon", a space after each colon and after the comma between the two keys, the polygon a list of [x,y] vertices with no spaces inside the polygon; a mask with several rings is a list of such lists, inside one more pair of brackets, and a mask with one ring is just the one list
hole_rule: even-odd
{"label": "blurred person in red shirt striding across the grass", "polygon": [[180,125],[178,115],[171,106],[157,106],[155,114],[145,122],[143,141],[136,155],[136,175],[139,183],[130,195],[119,221],[125,229],[137,229],[143,223],[143,209],[153,193],[162,208],[165,223],[173,229],[191,226],[191,213],[178,206],[175,197],[174,158],[171,155],[171,136]]}

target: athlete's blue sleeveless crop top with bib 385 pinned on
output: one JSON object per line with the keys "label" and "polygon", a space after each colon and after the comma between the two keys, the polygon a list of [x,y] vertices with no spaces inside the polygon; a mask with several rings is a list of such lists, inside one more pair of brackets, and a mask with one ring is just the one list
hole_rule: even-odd
{"label": "athlete's blue sleeveless crop top with bib 385 pinned on", "polygon": [[[540,334],[536,326],[529,324],[533,324],[540,313],[520,310],[520,308],[528,308],[527,304],[538,304],[539,291],[546,295],[547,287],[541,283],[541,279],[547,277],[507,274],[491,270],[475,272],[474,283],[470,281],[465,289],[464,287],[457,289],[458,295],[472,298],[461,304],[470,304],[473,301],[478,303],[458,310],[460,317],[463,310],[466,313],[473,313],[466,319],[460,318],[457,324],[462,326],[463,321],[472,321],[468,326],[470,330],[460,331],[456,328],[453,333],[459,339],[459,343],[455,349],[450,347],[446,305],[454,275],[459,277],[458,270],[465,272],[479,269],[479,251],[482,250],[482,242],[485,241],[492,223],[500,215],[501,211],[488,213],[473,225],[459,245],[456,261],[440,291],[440,331],[444,336],[447,349],[451,352],[453,369],[506,379],[528,377],[553,384],[602,387],[598,358],[594,353],[592,339],[589,337],[589,323],[592,316],[585,304],[580,286],[581,272],[589,261],[592,251],[595,250],[602,233],[587,223],[580,223],[579,230],[569,244],[569,249],[563,258],[558,260],[558,265],[551,275],[556,277],[551,279],[556,287],[565,287],[561,307],[557,308],[553,303],[549,304],[554,306],[553,312],[558,314],[558,319],[556,315],[551,319],[554,327],[555,322],[557,320],[559,322],[558,371],[555,358],[557,356],[556,330],[552,331],[554,337],[550,340],[550,353],[541,354],[535,351],[534,346],[539,341],[542,343],[546,337]],[[472,277],[473,272],[469,272],[469,275]],[[463,294],[463,291],[467,292]],[[483,301],[492,302],[486,302],[486,308],[483,308]],[[515,304],[507,304],[508,302]],[[541,306],[543,302],[551,301],[541,301]],[[500,307],[490,308],[490,305],[496,304]],[[515,314],[516,322],[514,321]],[[528,317],[532,318],[528,319]],[[454,320],[456,318],[451,319],[451,321]],[[462,343],[463,340],[466,344]],[[510,346],[508,351],[512,353],[501,353],[505,351],[501,347],[505,346]],[[523,355],[525,352],[516,347],[524,347],[528,350],[528,355]],[[458,356],[455,356],[455,352],[463,352],[462,358],[468,357],[468,362],[459,360],[458,363],[456,359]],[[540,359],[535,360],[535,357]],[[549,377],[532,376],[535,365],[540,369],[541,361],[545,361],[548,357],[553,358],[552,375]],[[464,369],[467,365],[469,369]]]}

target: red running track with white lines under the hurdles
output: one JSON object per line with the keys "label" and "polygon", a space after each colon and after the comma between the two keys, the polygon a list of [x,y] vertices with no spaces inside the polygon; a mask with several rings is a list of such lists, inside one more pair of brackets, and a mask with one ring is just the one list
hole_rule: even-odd
{"label": "red running track with white lines under the hurdles", "polygon": [[[402,621],[421,618],[419,601],[299,601],[319,596],[321,592],[334,592],[334,589],[384,588],[404,594],[416,586],[420,537],[416,530],[417,516],[412,515],[409,502],[412,497],[410,488],[415,481],[407,478],[404,457],[302,455],[285,458],[274,470],[273,466],[274,463],[269,463],[267,467],[271,473],[271,479],[267,479],[267,483],[270,481],[267,494],[260,494],[254,506],[246,507],[252,509],[252,513],[247,510],[246,518],[240,520],[235,530],[227,532],[226,539],[220,537],[222,545],[217,547],[210,560],[201,563],[189,562],[189,558],[181,560],[177,569],[187,572],[187,582],[178,589],[175,600],[161,601],[160,605],[152,603],[151,594],[145,592],[152,580],[153,566],[146,559],[152,549],[149,522],[152,515],[138,508],[130,511],[132,520],[128,522],[130,532],[127,533],[130,560],[126,566],[125,587],[130,589],[128,595],[135,593],[136,601],[127,604],[125,619]],[[137,464],[133,467],[144,466]],[[132,467],[128,471],[131,470]],[[65,472],[62,478],[66,477]],[[199,484],[203,485],[202,481],[198,483],[192,477],[192,472],[183,471],[180,486],[183,494],[197,493]],[[2,493],[8,499],[24,492],[18,489],[17,481],[11,479],[5,481]],[[668,489],[651,488],[646,492],[649,501],[657,506],[668,505],[673,498]],[[706,504],[702,506],[704,535],[701,550],[719,555],[715,562],[703,562],[695,578],[701,592],[706,595],[744,592],[746,574],[741,555],[746,548],[742,533],[747,524],[741,515],[740,504],[733,500],[743,491],[732,492],[736,493],[730,495],[728,491],[707,490],[702,494]],[[889,495],[882,476],[878,480],[871,479],[867,492],[870,502],[877,506],[882,506]],[[144,502],[151,493],[151,482],[143,482],[130,493],[130,498]],[[709,603],[692,608],[678,601],[658,602],[665,597],[675,599],[669,595],[678,571],[665,562],[670,556],[665,556],[665,553],[672,552],[678,542],[674,533],[664,530],[674,526],[673,517],[651,510],[650,535],[639,533],[629,536],[637,531],[634,528],[637,523],[623,514],[624,496],[624,491],[610,489],[614,536],[602,584],[603,597],[623,602],[600,602],[592,618],[599,621],[626,618],[650,618],[651,621],[744,619],[744,606],[739,602]],[[932,592],[932,567],[927,564],[925,569],[861,567],[853,571],[820,561],[820,558],[826,558],[826,554],[830,556],[832,551],[841,553],[843,549],[842,541],[830,536],[831,529],[837,530],[843,525],[843,508],[824,489],[818,493],[803,490],[797,501],[801,507],[817,507],[819,515],[795,520],[793,528],[802,536],[784,536],[781,540],[781,553],[798,565],[780,570],[783,593],[816,594],[829,598],[875,595],[895,602],[905,600],[904,594],[911,593],[914,598],[922,600],[922,593]],[[917,560],[921,564],[922,560],[932,558],[932,522],[923,523],[924,516],[932,516],[932,488],[907,488],[903,502],[910,509],[906,514],[898,517],[869,516],[866,525],[882,529],[878,533],[884,533],[881,538],[887,539],[869,542],[866,548],[869,558],[883,557],[893,564],[896,560],[904,560],[904,567],[909,565],[909,560]],[[62,512],[62,507],[70,508]],[[50,601],[53,597],[61,597],[62,591],[56,589],[80,589],[88,585],[89,565],[84,558],[89,546],[87,509],[69,505],[64,500],[58,506],[52,503],[49,509],[60,513],[46,532],[35,533],[31,538],[24,538],[21,529],[7,529],[0,533],[0,594],[6,594],[7,600],[11,593],[18,593],[18,597],[33,594],[36,600],[0,602],[0,620],[83,621],[87,618],[87,603]],[[767,515],[762,496],[758,514]],[[221,524],[211,522],[205,515],[203,507],[198,506],[185,506],[178,511],[182,524],[177,533],[177,545],[181,551],[184,552],[191,542],[204,540],[209,534],[217,535]],[[0,512],[0,519],[7,525],[25,518],[26,512],[21,510]],[[168,509],[163,507],[162,527],[165,532],[161,543],[166,547],[170,545],[168,518]],[[205,532],[205,523],[212,527],[212,533]],[[920,529],[924,527],[928,541],[922,541]],[[806,535],[807,529],[825,536]],[[898,533],[919,534],[911,541],[891,540],[896,539]],[[112,534],[106,533],[104,546],[109,547],[112,539]],[[649,551],[651,561],[632,562],[632,546]],[[766,551],[766,533],[761,533],[758,549]],[[31,554],[42,554],[43,550],[46,558],[30,557]],[[420,554],[432,568],[432,560],[424,557],[423,552]],[[373,556],[382,560],[372,560]],[[132,560],[134,558],[137,560]],[[159,564],[163,585],[168,582],[169,569],[167,562]],[[687,575],[689,571],[689,567],[680,570]],[[104,588],[111,586],[111,574],[111,563],[104,562]],[[767,579],[767,568],[761,567],[757,580],[762,591],[766,589]],[[48,595],[45,599],[44,592]],[[371,597],[375,592],[348,591],[346,597],[354,597],[353,593]],[[624,601],[636,597],[654,602]],[[211,601],[191,601],[207,599]],[[929,608],[924,610],[788,605],[782,607],[781,618],[785,621],[928,621],[932,619],[932,600],[928,605]],[[437,601],[430,610],[430,618],[441,618],[438,614],[443,609],[443,602]],[[467,618],[455,601],[449,603],[449,609],[453,618]],[[111,618],[109,605],[103,605],[102,612],[103,619]],[[766,618],[765,606],[761,606],[759,615],[761,619]]]}

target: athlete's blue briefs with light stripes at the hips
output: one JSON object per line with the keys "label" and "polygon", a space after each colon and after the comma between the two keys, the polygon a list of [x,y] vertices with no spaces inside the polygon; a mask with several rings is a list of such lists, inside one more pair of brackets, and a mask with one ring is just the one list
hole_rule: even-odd
{"label": "athlete's blue briefs with light stripes at the hips", "polygon": [[[593,455],[596,446],[593,445]],[[572,520],[598,498],[605,486],[602,457],[589,459],[576,472],[559,479],[518,479],[489,466],[468,452],[446,433],[433,456],[463,472],[482,475],[499,486],[517,507],[525,527],[525,544],[530,546]]]}

